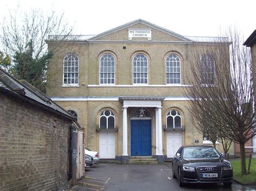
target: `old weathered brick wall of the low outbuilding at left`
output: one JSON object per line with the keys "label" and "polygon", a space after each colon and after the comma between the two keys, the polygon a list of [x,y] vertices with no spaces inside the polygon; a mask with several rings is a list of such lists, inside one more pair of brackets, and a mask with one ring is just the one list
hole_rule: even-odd
{"label": "old weathered brick wall of the low outbuilding at left", "polygon": [[70,124],[0,94],[0,190],[68,188]]}

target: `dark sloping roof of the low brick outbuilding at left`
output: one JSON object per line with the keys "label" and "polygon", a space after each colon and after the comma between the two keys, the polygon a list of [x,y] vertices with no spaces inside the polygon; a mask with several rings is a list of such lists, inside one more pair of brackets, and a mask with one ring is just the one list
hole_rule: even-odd
{"label": "dark sloping roof of the low brick outbuilding at left", "polygon": [[72,121],[76,120],[73,115],[61,108],[48,96],[33,87],[30,83],[24,80],[17,80],[14,76],[9,74],[2,68],[0,68],[0,91],[5,93],[10,92],[14,95],[18,94],[19,96],[17,98],[26,98],[33,103],[41,105],[43,108],[48,108],[49,111],[58,112],[63,117],[72,119]]}

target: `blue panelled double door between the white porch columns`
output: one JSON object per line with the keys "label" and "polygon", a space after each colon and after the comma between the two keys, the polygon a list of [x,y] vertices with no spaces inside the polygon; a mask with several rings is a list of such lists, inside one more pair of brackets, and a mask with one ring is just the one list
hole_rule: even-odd
{"label": "blue panelled double door between the white porch columns", "polygon": [[151,155],[151,120],[131,120],[131,156]]}

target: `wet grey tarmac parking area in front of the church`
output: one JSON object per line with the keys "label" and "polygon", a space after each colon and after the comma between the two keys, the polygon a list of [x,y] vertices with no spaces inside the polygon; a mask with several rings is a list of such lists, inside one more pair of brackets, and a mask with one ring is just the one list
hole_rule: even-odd
{"label": "wet grey tarmac parking area in front of the church", "polygon": [[172,165],[97,164],[86,168],[86,176],[72,190],[254,190],[233,182],[231,188],[222,184],[186,185],[180,188],[172,179]]}

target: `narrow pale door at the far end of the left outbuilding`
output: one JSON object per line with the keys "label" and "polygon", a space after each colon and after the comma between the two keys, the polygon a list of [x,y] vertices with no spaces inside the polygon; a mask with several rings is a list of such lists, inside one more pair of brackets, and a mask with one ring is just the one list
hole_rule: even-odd
{"label": "narrow pale door at the far end of the left outbuilding", "polygon": [[83,176],[83,132],[78,131],[77,138],[77,180]]}

